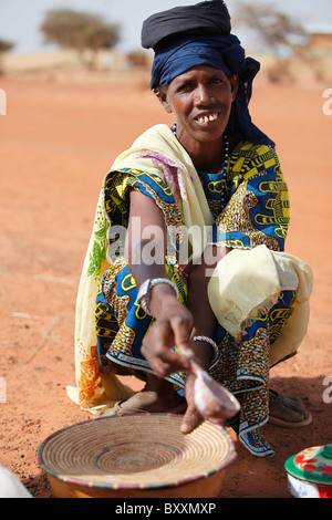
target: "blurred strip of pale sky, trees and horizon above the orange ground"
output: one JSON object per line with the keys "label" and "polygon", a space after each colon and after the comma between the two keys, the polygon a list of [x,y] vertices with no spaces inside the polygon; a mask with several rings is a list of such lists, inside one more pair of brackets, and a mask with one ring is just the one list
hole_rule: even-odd
{"label": "blurred strip of pale sky, trees and horizon above the orange ground", "polygon": [[[11,0],[0,2],[2,73],[41,74],[77,67],[95,73],[149,66],[141,49],[142,22],[158,10],[189,6],[191,0]],[[291,81],[299,64],[326,80],[332,48],[332,4],[329,0],[229,0],[232,32],[248,53],[268,63],[271,81]],[[271,58],[272,56],[272,58]],[[43,71],[42,71],[43,69]],[[329,71],[330,72],[330,71]],[[309,72],[307,75],[310,75]]]}

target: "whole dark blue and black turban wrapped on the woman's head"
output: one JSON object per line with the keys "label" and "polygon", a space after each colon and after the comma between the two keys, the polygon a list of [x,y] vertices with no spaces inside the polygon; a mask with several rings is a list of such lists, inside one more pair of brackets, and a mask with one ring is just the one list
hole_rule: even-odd
{"label": "whole dark blue and black turban wrapped on the woman's head", "polygon": [[168,85],[193,66],[219,69],[239,76],[226,132],[240,139],[274,147],[274,143],[251,121],[249,102],[260,63],[246,58],[243,48],[230,33],[230,17],[222,0],[178,7],[149,17],[143,23],[142,45],[155,52],[151,87]]}

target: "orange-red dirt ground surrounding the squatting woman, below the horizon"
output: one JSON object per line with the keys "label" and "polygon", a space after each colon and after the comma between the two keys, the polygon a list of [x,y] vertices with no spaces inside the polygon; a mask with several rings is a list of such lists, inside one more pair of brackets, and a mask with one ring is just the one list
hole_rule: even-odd
{"label": "orange-red dirt ground surrounding the squatting woman, below the horizon", "polygon": [[[52,498],[39,445],[91,418],[69,399],[66,386],[74,383],[75,295],[103,175],[142,131],[170,123],[145,86],[0,81],[7,93],[0,116],[0,464],[35,498]],[[264,426],[276,448],[269,459],[255,458],[236,439],[238,457],[221,497],[289,498],[286,459],[332,443],[325,379],[331,387],[332,116],[322,111],[329,86],[259,83],[255,90],[252,117],[278,143],[289,184],[287,250],[314,272],[308,335],[295,357],[272,370],[271,383],[301,396],[313,422],[301,429]]]}

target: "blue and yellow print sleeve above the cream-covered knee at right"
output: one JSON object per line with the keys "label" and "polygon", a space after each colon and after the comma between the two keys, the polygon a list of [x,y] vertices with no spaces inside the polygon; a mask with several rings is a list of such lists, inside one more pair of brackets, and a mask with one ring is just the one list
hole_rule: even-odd
{"label": "blue and yellow print sleeve above the cream-covered knee at right", "polygon": [[289,194],[273,149],[250,143],[236,148],[226,194],[229,201],[216,219],[216,242],[240,249],[264,243],[271,250],[284,250]]}

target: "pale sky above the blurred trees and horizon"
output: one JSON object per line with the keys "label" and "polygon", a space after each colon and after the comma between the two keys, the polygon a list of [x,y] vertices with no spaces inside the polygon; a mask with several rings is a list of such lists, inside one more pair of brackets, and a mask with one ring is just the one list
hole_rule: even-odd
{"label": "pale sky above the blurred trees and horizon", "polygon": [[[0,0],[0,39],[15,42],[14,53],[50,52],[53,46],[43,44],[39,31],[44,13],[50,9],[74,9],[101,14],[107,22],[118,23],[121,51],[134,51],[141,46],[141,28],[151,14],[176,6],[190,6],[198,0]],[[247,0],[249,1],[249,0]],[[252,0],[253,1],[253,0]],[[226,0],[230,14],[238,0]],[[278,10],[294,17],[304,25],[332,27],[331,0],[270,0]],[[240,38],[240,30],[234,30]],[[246,43],[246,42],[245,42]]]}

